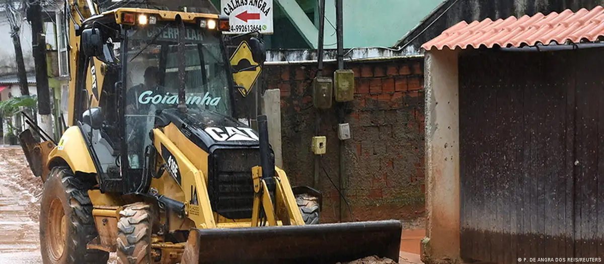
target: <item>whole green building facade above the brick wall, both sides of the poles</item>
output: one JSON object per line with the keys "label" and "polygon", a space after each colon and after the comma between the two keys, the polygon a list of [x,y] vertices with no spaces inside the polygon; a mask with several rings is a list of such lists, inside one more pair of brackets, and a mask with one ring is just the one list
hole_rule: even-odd
{"label": "whole green building facade above the brick wall, both sides of the poles", "polygon": [[[220,7],[220,0],[212,0]],[[273,0],[275,33],[265,36],[269,49],[311,48],[299,28],[306,28],[298,19],[308,19],[318,28],[318,0]],[[295,2],[305,16],[288,15],[281,6]],[[394,46],[397,40],[419,25],[443,0],[343,0],[344,48]],[[336,48],[335,0],[325,1],[325,41],[327,49]],[[298,13],[301,14],[301,13]],[[309,25],[312,27],[312,25]],[[306,30],[306,32],[310,32]],[[315,32],[313,34],[318,34]],[[315,36],[316,42],[316,36]],[[316,45],[312,45],[316,46]]]}

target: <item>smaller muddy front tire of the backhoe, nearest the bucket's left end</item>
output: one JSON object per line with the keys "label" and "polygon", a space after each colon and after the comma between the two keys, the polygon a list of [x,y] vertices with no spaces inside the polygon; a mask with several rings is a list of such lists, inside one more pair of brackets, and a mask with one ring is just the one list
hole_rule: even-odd
{"label": "smaller muddy front tire of the backhoe, nearest the bucket's left end", "polygon": [[117,263],[150,264],[152,214],[149,204],[124,207],[117,224]]}

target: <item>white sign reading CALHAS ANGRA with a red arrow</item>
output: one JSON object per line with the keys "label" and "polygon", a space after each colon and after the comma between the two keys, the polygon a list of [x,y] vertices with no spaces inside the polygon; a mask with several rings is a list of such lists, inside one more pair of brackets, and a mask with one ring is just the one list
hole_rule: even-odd
{"label": "white sign reading CALHAS ANGRA with a red arrow", "polygon": [[231,30],[225,33],[260,31],[262,34],[272,34],[272,1],[220,0],[220,12],[229,17],[231,25]]}

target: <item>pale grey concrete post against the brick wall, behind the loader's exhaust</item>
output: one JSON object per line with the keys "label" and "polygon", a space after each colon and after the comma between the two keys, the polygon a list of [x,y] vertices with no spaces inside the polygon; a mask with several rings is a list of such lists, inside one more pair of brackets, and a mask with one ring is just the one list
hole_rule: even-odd
{"label": "pale grey concrete post against the brick wall, behind the loader's exhaust", "polygon": [[262,95],[262,114],[268,119],[268,140],[275,152],[275,166],[283,168],[281,152],[281,91],[266,90]]}

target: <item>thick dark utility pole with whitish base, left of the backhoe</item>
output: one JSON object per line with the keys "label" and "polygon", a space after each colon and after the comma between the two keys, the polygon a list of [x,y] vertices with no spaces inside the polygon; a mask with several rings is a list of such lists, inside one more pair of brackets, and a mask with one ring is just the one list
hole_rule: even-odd
{"label": "thick dark utility pole with whitish base, left of the backhoe", "polygon": [[53,118],[50,110],[50,90],[48,88],[48,67],[46,61],[46,36],[42,20],[42,5],[40,1],[30,0],[27,10],[27,20],[31,23],[32,51],[36,64],[36,90],[38,125],[48,134],[53,134]]}

